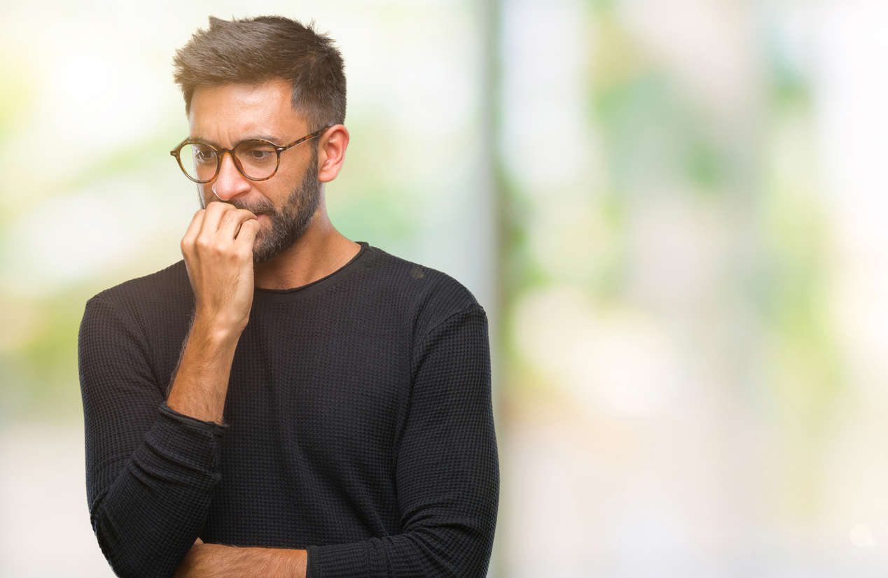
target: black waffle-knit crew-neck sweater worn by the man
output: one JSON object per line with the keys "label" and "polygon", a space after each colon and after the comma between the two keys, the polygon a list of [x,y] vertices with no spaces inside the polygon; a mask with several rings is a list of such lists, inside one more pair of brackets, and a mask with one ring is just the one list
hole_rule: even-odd
{"label": "black waffle-knit crew-neck sweater worn by the man", "polygon": [[194,312],[183,261],[86,304],[86,491],[117,574],[204,542],[308,550],[308,576],[481,576],[499,471],[487,316],[444,273],[361,242],[255,289],[223,424],[165,402]]}

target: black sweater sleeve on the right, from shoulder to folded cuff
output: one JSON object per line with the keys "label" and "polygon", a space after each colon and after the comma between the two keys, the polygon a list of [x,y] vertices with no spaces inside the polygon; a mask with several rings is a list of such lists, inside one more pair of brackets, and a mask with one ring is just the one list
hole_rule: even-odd
{"label": "black sweater sleeve on the right, from shoulder to folded cuff", "polygon": [[414,347],[395,478],[400,534],[310,546],[308,578],[487,573],[499,465],[480,305],[440,321]]}

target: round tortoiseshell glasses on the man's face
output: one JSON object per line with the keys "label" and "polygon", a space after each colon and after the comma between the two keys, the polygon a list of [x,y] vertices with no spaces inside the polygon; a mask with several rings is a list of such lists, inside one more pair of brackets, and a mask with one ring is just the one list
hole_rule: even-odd
{"label": "round tortoiseshell glasses on the man's face", "polygon": [[202,140],[185,139],[170,151],[176,157],[178,168],[195,183],[200,185],[215,180],[219,174],[222,157],[228,153],[234,161],[234,167],[244,178],[250,180],[268,180],[274,177],[281,165],[281,153],[297,146],[308,139],[320,137],[323,131],[332,125],[325,126],[320,131],[306,134],[302,139],[297,139],[287,146],[275,145],[273,142],[263,139],[242,140],[234,148],[222,148],[213,146]]}

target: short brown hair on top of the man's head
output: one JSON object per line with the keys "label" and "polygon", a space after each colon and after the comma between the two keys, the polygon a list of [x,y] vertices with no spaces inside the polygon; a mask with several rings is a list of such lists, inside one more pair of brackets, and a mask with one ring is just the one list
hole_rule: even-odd
{"label": "short brown hair on top of the man's head", "polygon": [[293,109],[316,131],[345,123],[342,55],[329,36],[281,16],[219,20],[198,30],[176,51],[173,77],[185,110],[194,90],[228,83],[263,83],[283,78],[293,86]]}

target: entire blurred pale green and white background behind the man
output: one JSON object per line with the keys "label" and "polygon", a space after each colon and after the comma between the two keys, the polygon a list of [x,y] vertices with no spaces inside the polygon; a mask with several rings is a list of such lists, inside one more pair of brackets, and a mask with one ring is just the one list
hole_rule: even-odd
{"label": "entire blurred pale green and white background behind the man", "polygon": [[83,305],[181,258],[173,52],[266,13],[345,57],[334,225],[488,311],[491,575],[885,574],[884,0],[3,4],[0,574],[111,575]]}

